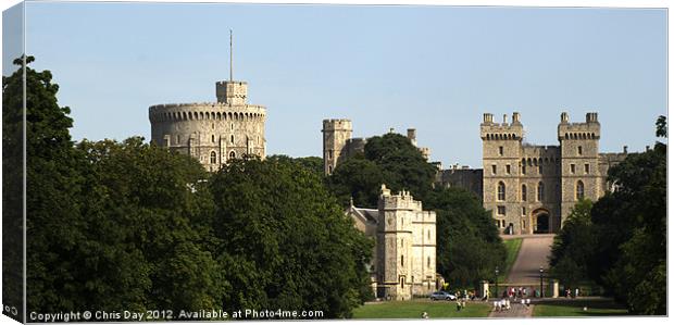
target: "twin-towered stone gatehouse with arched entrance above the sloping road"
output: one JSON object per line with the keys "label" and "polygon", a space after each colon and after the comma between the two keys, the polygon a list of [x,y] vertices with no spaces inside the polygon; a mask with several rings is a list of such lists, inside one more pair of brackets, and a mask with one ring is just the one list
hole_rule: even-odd
{"label": "twin-towered stone gatehouse with arched entrance above the sloping road", "polygon": [[560,146],[524,143],[519,113],[512,123],[507,115],[495,123],[485,114],[480,137],[483,204],[509,234],[558,232],[579,200],[596,201],[606,192],[608,167],[625,158],[599,153],[597,113],[587,113],[583,123],[569,123],[562,113]]}

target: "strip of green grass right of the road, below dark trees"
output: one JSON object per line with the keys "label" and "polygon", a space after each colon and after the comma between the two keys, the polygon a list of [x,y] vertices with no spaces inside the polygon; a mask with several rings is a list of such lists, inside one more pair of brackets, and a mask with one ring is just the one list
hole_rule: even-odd
{"label": "strip of green grass right of the road, below dark trees", "polygon": [[[583,310],[587,307],[587,311]],[[612,301],[565,300],[540,302],[534,307],[534,317],[588,317],[588,316],[621,316],[627,315],[627,310]]]}

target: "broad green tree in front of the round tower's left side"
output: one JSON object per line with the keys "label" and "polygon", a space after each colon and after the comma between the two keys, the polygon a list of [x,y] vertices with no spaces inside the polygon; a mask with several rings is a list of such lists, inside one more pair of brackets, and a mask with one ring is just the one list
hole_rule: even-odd
{"label": "broad green tree in front of the round tower's left side", "polygon": [[211,254],[214,205],[196,160],[129,138],[83,141],[86,234],[71,258],[79,308],[199,310],[221,305]]}

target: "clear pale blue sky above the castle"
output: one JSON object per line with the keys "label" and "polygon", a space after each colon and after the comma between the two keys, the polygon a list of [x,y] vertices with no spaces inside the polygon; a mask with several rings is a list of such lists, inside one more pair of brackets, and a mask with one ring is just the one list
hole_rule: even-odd
{"label": "clear pale blue sky above the castle", "polygon": [[[149,139],[148,107],[215,101],[228,78],[267,107],[267,153],[321,155],[323,118],[354,137],[417,129],[444,165],[479,166],[482,114],[522,114],[557,145],[560,113],[599,113],[602,151],[642,151],[666,114],[666,11],[35,3],[34,68],[51,70],[75,139]],[[7,74],[7,70],[3,72]]]}

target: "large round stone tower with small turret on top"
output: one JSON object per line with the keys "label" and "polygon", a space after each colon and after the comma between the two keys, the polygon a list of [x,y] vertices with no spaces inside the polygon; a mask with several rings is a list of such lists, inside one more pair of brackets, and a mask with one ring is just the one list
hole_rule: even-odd
{"label": "large round stone tower with small turret on top", "polygon": [[242,82],[219,82],[219,102],[150,107],[152,142],[194,157],[210,172],[229,159],[264,159],[266,109],[247,104],[247,89]]}

